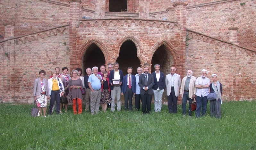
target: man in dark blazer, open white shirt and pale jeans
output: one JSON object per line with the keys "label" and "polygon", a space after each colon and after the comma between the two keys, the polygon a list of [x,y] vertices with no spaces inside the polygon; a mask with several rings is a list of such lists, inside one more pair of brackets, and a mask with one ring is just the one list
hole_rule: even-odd
{"label": "man in dark blazer, open white shirt and pale jeans", "polygon": [[154,85],[152,87],[154,92],[154,105],[155,105],[155,112],[161,112],[162,109],[162,97],[166,88],[165,85],[165,74],[159,71],[160,65],[155,65],[155,72],[152,73],[154,76]]}

